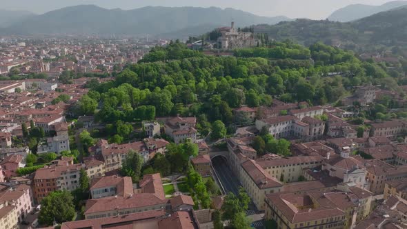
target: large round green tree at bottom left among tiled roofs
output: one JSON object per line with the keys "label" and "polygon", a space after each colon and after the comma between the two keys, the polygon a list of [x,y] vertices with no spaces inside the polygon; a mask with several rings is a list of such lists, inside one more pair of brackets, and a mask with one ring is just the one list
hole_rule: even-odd
{"label": "large round green tree at bottom left among tiled roofs", "polygon": [[68,191],[50,192],[41,201],[38,221],[41,225],[52,226],[54,221],[72,221],[75,216],[73,197]]}

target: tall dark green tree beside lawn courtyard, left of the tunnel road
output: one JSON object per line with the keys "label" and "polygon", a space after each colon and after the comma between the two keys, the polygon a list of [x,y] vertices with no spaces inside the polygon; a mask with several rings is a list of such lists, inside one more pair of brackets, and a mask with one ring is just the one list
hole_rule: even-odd
{"label": "tall dark green tree beside lawn courtyard, left of the tunnel road", "polygon": [[133,183],[137,183],[141,177],[141,167],[143,166],[143,157],[135,150],[130,150],[126,159],[121,162],[121,174],[131,177]]}

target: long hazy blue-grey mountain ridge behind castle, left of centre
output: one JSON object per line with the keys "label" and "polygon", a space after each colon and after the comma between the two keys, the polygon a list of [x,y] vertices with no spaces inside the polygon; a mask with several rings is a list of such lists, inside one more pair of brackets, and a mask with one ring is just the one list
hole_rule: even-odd
{"label": "long hazy blue-grey mountain ridge behind castle, left of centre", "polygon": [[[287,17],[260,17],[232,8],[144,7],[135,10],[108,10],[94,5],[61,8],[19,21],[3,34],[173,34],[189,30],[206,32],[206,26],[227,26],[235,21],[239,27],[258,23],[275,24]],[[206,25],[206,26],[205,26]],[[201,29],[199,29],[201,28]]]}

